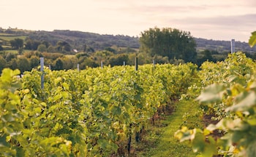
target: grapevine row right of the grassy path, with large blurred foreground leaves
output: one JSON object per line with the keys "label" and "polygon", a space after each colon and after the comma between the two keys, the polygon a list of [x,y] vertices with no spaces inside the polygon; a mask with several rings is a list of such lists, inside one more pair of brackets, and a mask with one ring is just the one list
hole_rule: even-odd
{"label": "grapevine row right of the grassy path, with large blurred foreground leaves", "polygon": [[[197,100],[218,120],[204,129],[183,127],[176,132],[190,140],[202,156],[256,156],[256,63],[242,52],[224,62],[203,63],[199,76],[204,88]],[[213,137],[219,132],[222,137]]]}

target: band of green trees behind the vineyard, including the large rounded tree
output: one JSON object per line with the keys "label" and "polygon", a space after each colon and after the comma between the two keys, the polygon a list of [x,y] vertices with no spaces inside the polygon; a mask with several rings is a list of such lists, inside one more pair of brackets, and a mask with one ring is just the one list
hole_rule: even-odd
{"label": "band of green trees behind the vineyard, including the large rounded tree", "polygon": [[[139,49],[105,47],[95,50],[84,44],[79,52],[72,52],[74,47],[69,41],[38,41],[26,38],[10,41],[12,49],[17,49],[18,54],[1,51],[0,70],[3,68],[18,68],[21,72],[30,71],[39,65],[39,57],[45,57],[45,65],[53,70],[68,70],[72,68],[97,67],[101,65],[134,65],[134,58],[138,57],[139,64],[152,63],[195,63],[200,66],[206,60],[217,62],[225,60],[227,53],[205,49],[198,52],[195,39],[187,31],[176,28],[149,28],[141,32]],[[26,49],[26,51],[23,51]],[[1,49],[0,49],[1,50]],[[28,51],[29,50],[29,51]],[[256,58],[254,54],[248,57]]]}

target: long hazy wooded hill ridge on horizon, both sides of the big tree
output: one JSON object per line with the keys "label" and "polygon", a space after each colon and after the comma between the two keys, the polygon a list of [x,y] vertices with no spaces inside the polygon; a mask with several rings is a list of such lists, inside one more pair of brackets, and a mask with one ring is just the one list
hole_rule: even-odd
{"label": "long hazy wooded hill ridge on horizon, both sides of the big tree", "polygon": [[[89,33],[82,31],[69,31],[69,30],[54,30],[54,31],[28,31],[17,28],[0,28],[0,44],[4,43],[1,33],[4,33],[6,38],[7,34],[10,36],[22,36],[24,39],[28,37],[38,41],[48,41],[50,44],[55,45],[58,41],[67,41],[72,49],[83,50],[83,48],[91,47],[95,50],[105,49],[106,47],[129,47],[138,49],[140,47],[139,38],[124,36],[124,35],[101,35],[99,33]],[[230,52],[230,41],[217,41],[195,38],[197,43],[197,50],[203,49],[216,50],[217,52]],[[236,41],[236,51],[242,52],[256,52],[256,47],[249,47],[246,42]]]}

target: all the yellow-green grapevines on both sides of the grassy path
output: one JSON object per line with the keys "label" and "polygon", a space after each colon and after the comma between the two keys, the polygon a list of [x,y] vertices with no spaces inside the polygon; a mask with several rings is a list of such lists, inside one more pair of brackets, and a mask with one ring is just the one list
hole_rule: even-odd
{"label": "all the yellow-green grapevines on both sides of the grassy path", "polygon": [[[255,62],[87,68],[0,78],[0,156],[128,156],[132,140],[179,99],[197,100],[217,124],[175,134],[202,156],[256,156]],[[44,75],[44,88],[40,78]],[[203,92],[201,92],[203,91]],[[201,94],[200,94],[201,92]],[[211,136],[219,132],[220,137]],[[170,137],[171,138],[171,137]]]}

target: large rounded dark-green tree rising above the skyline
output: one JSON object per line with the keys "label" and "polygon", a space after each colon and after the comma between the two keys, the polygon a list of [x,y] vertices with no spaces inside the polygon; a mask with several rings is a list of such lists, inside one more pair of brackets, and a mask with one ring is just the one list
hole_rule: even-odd
{"label": "large rounded dark-green tree rising above the skyline", "polygon": [[153,57],[161,55],[192,62],[196,58],[195,39],[189,32],[172,28],[150,28],[140,36],[140,52],[146,52]]}

